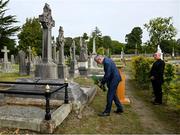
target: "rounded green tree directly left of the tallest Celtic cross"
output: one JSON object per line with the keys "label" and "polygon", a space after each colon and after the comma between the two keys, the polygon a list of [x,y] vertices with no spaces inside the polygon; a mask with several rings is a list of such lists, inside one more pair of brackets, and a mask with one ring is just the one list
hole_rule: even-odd
{"label": "rounded green tree directly left of the tallest Celtic cross", "polygon": [[42,29],[38,18],[26,19],[22,26],[21,32],[18,34],[19,46],[18,49],[27,51],[28,46],[35,51],[35,55],[42,53]]}

